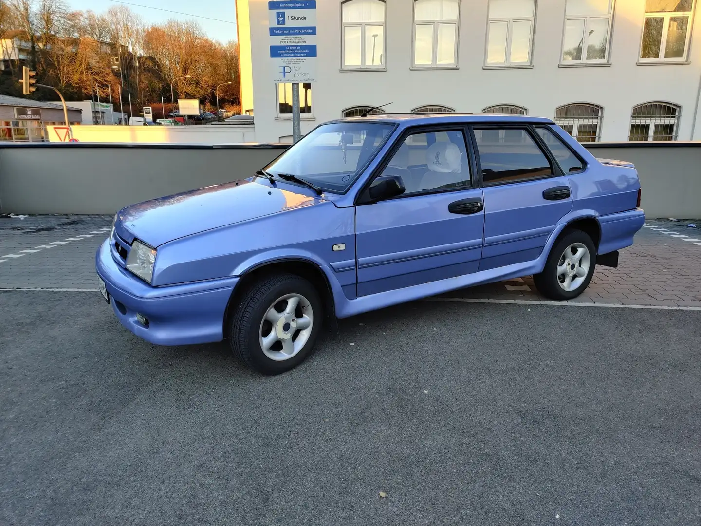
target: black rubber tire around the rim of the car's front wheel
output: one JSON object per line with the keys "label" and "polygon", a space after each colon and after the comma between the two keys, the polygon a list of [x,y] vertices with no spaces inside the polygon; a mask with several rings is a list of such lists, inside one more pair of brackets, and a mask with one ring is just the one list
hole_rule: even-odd
{"label": "black rubber tire around the rim of the car's front wheel", "polygon": [[[290,294],[302,295],[309,302],[313,313],[311,332],[306,344],[294,356],[276,361],[266,356],[261,347],[261,323],[264,323],[273,302]],[[324,319],[322,309],[319,293],[306,279],[294,274],[263,276],[247,288],[243,299],[233,311],[229,333],[231,349],[246,365],[264,375],[279,375],[294,369],[311,353]]]}

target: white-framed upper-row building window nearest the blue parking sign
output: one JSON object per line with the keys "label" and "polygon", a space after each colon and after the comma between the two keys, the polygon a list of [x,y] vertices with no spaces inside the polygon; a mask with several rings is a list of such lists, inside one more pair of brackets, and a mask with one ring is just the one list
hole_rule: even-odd
{"label": "white-framed upper-row building window nearest the blue parking sign", "polygon": [[382,0],[348,0],[341,4],[341,67],[385,67],[385,13]]}

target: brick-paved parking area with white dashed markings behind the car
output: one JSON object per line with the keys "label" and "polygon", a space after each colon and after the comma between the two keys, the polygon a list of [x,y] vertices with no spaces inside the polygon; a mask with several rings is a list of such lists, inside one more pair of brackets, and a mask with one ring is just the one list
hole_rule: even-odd
{"label": "brick-paved parking area with white dashed markings behind the car", "polygon": [[[95,251],[109,234],[111,219],[0,217],[0,288],[97,288]],[[621,251],[618,269],[597,267],[589,288],[572,302],[701,307],[701,241],[694,241],[701,239],[701,229],[688,228],[688,223],[646,222],[635,244]],[[444,297],[545,299],[530,277]]]}

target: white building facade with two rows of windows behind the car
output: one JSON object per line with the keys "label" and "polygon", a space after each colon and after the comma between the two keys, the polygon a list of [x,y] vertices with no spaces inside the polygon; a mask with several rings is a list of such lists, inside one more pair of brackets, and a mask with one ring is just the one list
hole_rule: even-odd
{"label": "white building facade with two rows of windows behind the car", "polygon": [[[317,82],[302,133],[386,112],[546,116],[580,142],[701,140],[701,0],[317,0]],[[289,142],[268,1],[237,0],[242,109]]]}

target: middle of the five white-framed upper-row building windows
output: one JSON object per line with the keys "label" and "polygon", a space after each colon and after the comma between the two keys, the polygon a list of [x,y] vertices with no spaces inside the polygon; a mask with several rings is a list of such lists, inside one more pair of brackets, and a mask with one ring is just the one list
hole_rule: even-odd
{"label": "middle of the five white-framed upper-row building windows", "polygon": [[489,0],[486,65],[531,63],[536,0]]}

